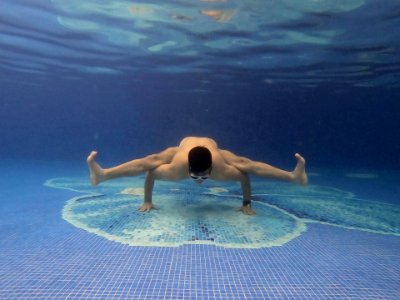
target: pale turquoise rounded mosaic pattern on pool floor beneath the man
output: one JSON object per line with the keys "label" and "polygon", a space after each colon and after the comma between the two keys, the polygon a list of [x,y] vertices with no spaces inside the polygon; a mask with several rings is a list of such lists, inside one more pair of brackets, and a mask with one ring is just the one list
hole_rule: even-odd
{"label": "pale turquoise rounded mosaic pattern on pool floor beneath the man", "polygon": [[141,213],[143,178],[91,187],[86,180],[52,179],[48,186],[85,193],[67,202],[63,218],[88,232],[131,246],[210,244],[235,248],[283,245],[306,230],[307,222],[378,233],[400,234],[400,208],[364,201],[330,187],[285,183],[253,184],[255,216],[236,211],[240,186],[198,186],[191,181],[158,182],[154,204]]}

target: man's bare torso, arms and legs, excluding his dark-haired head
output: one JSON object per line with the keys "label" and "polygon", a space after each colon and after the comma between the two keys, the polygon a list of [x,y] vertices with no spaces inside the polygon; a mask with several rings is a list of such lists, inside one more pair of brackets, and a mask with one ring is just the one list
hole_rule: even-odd
{"label": "man's bare torso, arms and legs, excluding his dark-haired head", "polygon": [[[155,180],[182,180],[189,178],[188,153],[192,148],[197,146],[206,147],[211,152],[212,171],[209,174],[209,179],[238,181],[241,183],[243,203],[246,204],[238,210],[246,215],[255,214],[250,205],[251,187],[249,174],[299,184],[308,183],[305,160],[298,153],[295,154],[297,159],[296,167],[290,172],[262,162],[252,161],[246,157],[237,156],[227,150],[221,150],[214,140],[200,137],[184,138],[178,147],[167,148],[158,154],[135,159],[109,169],[103,169],[95,161],[97,152],[92,151],[87,158],[91,183],[97,185],[109,179],[137,176],[147,172],[144,185],[144,203],[138,210],[148,212],[155,208],[152,202],[152,191]],[[200,178],[195,180],[198,184],[201,184],[203,181]]]}

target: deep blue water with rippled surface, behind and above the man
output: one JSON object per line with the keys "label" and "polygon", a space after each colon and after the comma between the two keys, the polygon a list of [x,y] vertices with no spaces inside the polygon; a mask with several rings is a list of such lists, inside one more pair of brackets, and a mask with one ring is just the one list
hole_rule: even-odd
{"label": "deep blue water with rippled surface, behind and above the man", "polygon": [[123,161],[200,135],[287,166],[400,165],[396,1],[1,8],[2,157]]}

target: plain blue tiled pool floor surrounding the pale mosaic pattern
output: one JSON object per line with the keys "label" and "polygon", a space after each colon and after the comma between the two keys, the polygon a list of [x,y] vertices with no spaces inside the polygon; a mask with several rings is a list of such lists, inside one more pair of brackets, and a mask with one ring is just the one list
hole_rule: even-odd
{"label": "plain blue tiled pool floor surrounding the pale mosaic pattern", "polygon": [[[371,219],[386,222],[383,227],[371,228],[382,222],[369,222],[370,219],[340,227],[348,222],[346,218],[334,220],[318,207],[303,211],[304,205],[293,205],[290,197],[279,200],[282,192],[275,197],[270,192],[266,197],[258,186],[262,183],[256,182],[254,192],[261,197],[256,199],[259,207],[267,199],[271,201],[268,205],[279,206],[303,220],[306,230],[282,246],[225,247],[211,241],[131,246],[63,219],[68,201],[85,194],[50,188],[43,183],[61,177],[76,182],[86,174],[82,166],[48,162],[8,162],[2,166],[5,168],[0,180],[0,299],[400,298],[400,237],[393,232],[399,229],[398,219],[393,220],[390,213],[376,214],[387,205],[400,205],[396,185],[399,174],[394,177],[379,173],[374,177],[371,173],[321,171],[320,176],[310,177],[313,185],[324,187],[323,192],[326,187],[333,187],[349,192],[357,201],[373,201],[369,205],[377,207],[363,207],[360,211],[371,214]],[[199,191],[202,192],[196,190],[194,194]],[[134,198],[132,194],[135,191],[118,195]],[[220,201],[222,194],[213,199]],[[191,199],[196,202],[197,198]],[[240,205],[240,199],[234,201],[237,203],[232,208]],[[347,205],[346,201],[339,204]],[[167,211],[163,203],[157,204],[157,213]],[[192,204],[187,203],[183,211]],[[336,207],[332,202],[330,205]],[[263,213],[260,208],[258,215]],[[324,222],[316,221],[318,218]],[[200,228],[200,239],[206,239],[202,225],[204,229],[205,224],[195,227]]]}

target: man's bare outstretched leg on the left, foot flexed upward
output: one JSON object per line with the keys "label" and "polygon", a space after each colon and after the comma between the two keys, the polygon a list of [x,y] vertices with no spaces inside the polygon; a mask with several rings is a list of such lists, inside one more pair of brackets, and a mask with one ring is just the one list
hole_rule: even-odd
{"label": "man's bare outstretched leg on the left, foot flexed upward", "polygon": [[92,151],[86,160],[90,171],[90,181],[93,185],[97,185],[113,178],[140,175],[157,168],[160,165],[170,163],[175,156],[176,151],[177,147],[171,147],[158,154],[134,159],[109,169],[103,169],[95,161],[97,152]]}

